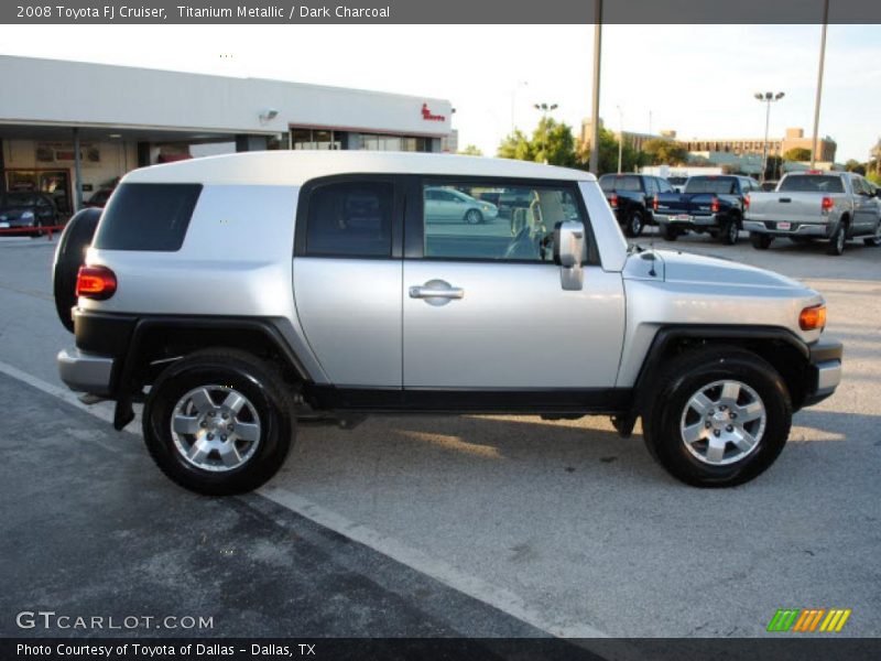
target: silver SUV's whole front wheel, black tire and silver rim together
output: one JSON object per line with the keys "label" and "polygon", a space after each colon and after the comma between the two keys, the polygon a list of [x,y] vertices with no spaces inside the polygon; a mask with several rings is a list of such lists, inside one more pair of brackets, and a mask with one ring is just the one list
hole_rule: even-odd
{"label": "silver SUV's whole front wheel, black tire and silver rim together", "polygon": [[645,443],[675,478],[696,487],[731,487],[763,473],[780,455],[792,402],[777,371],[737,347],[694,350],[673,359],[643,413]]}

